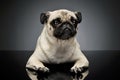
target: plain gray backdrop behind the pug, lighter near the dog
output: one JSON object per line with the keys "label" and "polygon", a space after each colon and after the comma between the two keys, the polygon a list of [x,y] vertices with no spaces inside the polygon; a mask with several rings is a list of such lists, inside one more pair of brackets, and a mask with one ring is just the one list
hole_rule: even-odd
{"label": "plain gray backdrop behind the pug, lighter near the dog", "polygon": [[119,0],[3,0],[0,50],[34,50],[43,25],[40,13],[66,8],[81,11],[78,41],[82,50],[120,50]]}

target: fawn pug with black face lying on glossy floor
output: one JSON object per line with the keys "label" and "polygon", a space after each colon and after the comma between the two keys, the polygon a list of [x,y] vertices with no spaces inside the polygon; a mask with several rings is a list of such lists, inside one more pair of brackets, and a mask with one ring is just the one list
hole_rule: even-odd
{"label": "fawn pug with black face lying on glossy floor", "polygon": [[84,80],[88,75],[88,70],[84,69],[88,68],[89,62],[75,37],[81,20],[81,12],[66,9],[41,13],[40,22],[44,28],[37,40],[36,49],[26,64],[26,71],[32,80],[37,80],[36,71],[50,71],[44,63],[66,62],[75,62],[70,71],[81,72],[81,80]]}

